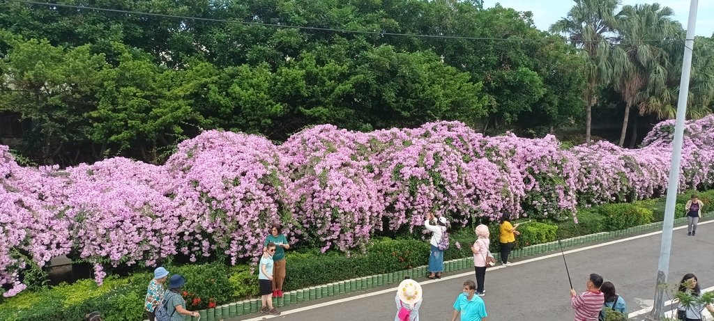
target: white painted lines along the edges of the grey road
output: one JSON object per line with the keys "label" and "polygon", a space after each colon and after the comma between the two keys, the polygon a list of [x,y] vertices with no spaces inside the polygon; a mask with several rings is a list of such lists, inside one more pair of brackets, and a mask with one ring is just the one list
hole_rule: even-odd
{"label": "white painted lines along the edges of the grey road", "polygon": [[[714,220],[707,220],[707,221],[705,221],[705,222],[700,222],[699,225],[704,225],[704,224],[713,223],[713,222],[714,222]],[[674,228],[673,230],[681,230],[681,229],[683,229],[683,228],[687,228],[687,225],[683,225],[683,226],[680,226],[680,227],[678,227],[678,228]],[[623,242],[627,242],[627,241],[630,241],[630,240],[637,240],[638,238],[647,238],[648,236],[658,235],[658,234],[660,234],[660,233],[662,233],[661,230],[659,230],[659,231],[657,231],[657,232],[652,232],[652,233],[643,234],[643,235],[635,235],[635,236],[630,237],[630,238],[623,238],[622,240],[613,240],[613,241],[610,241],[610,242],[608,242],[608,243],[600,243],[600,244],[595,244],[595,245],[586,246],[586,247],[584,247],[584,248],[576,248],[576,249],[574,249],[574,250],[567,250],[567,251],[565,251],[565,252],[563,252],[563,253],[564,253],[564,254],[578,253],[578,252],[585,251],[585,250],[591,250],[591,249],[593,249],[593,248],[602,248],[603,246],[613,245],[613,244],[616,244],[616,243],[623,243]],[[509,264],[509,266],[522,265],[522,264],[531,263],[531,262],[535,262],[535,261],[547,260],[547,259],[549,259],[549,258],[555,258],[555,257],[559,257],[559,256],[560,256],[560,252],[558,252],[558,253],[553,253],[553,254],[549,254],[549,255],[539,256],[538,258],[531,258],[531,259],[528,259],[528,260],[518,261],[518,262],[516,262],[516,263],[511,263],[511,264]],[[498,270],[498,269],[501,269],[501,268],[503,268],[503,265],[498,265],[498,266],[496,266],[496,267],[489,267],[488,270]],[[447,276],[447,277],[441,277],[441,280],[428,280],[428,281],[423,281],[423,282],[419,282],[419,284],[421,284],[421,285],[427,285],[427,284],[430,284],[430,283],[433,283],[433,282],[439,282],[439,281],[442,281],[442,280],[458,279],[458,278],[466,277],[466,276],[469,276],[469,275],[473,275],[473,271],[464,272],[464,273],[457,274],[457,275],[450,275],[450,276]],[[260,320],[272,319],[272,318],[274,318],[274,317],[282,317],[283,315],[292,315],[293,313],[299,313],[299,312],[303,312],[303,311],[313,310],[313,309],[317,309],[317,308],[319,308],[319,307],[326,307],[326,306],[328,306],[328,305],[336,305],[336,304],[338,304],[338,303],[350,302],[350,301],[354,301],[354,300],[363,299],[363,298],[365,298],[365,297],[373,297],[373,296],[375,296],[375,295],[383,295],[383,294],[385,294],[385,293],[394,292],[394,289],[395,289],[395,288],[388,288],[388,289],[379,290],[379,291],[376,291],[376,292],[365,293],[365,294],[363,294],[363,295],[355,295],[355,296],[351,296],[351,297],[344,297],[344,298],[342,298],[342,299],[332,300],[332,301],[328,301],[328,302],[322,302],[322,303],[318,303],[318,304],[316,304],[316,305],[308,305],[308,306],[306,306],[306,307],[298,307],[298,308],[296,308],[296,309],[282,311],[282,312],[281,312],[281,315],[261,315],[260,317],[253,317],[252,319],[246,319],[246,320],[243,320],[243,321],[260,321]],[[714,289],[714,287],[710,287],[709,289]],[[628,315],[628,317],[633,317],[633,316],[636,317],[636,316],[638,316],[638,315],[636,315],[635,313],[640,313],[639,315],[642,315],[642,314],[648,312],[651,308],[652,308],[652,307],[645,307],[645,308],[643,309],[644,312],[641,312],[641,311],[643,311],[643,310],[638,310],[637,312],[632,312],[632,313],[630,313],[630,315]]]}

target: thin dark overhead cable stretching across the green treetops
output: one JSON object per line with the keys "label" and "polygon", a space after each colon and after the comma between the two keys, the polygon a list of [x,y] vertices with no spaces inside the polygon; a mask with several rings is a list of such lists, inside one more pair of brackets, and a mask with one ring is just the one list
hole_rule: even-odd
{"label": "thin dark overhead cable stretching across the green treetops", "polygon": [[[371,34],[378,36],[410,36],[410,37],[420,37],[420,38],[436,38],[436,39],[461,39],[461,40],[488,40],[488,41],[548,41],[548,42],[560,42],[569,41],[568,39],[528,39],[528,38],[492,38],[492,37],[469,37],[469,36],[446,36],[446,35],[434,35],[434,34],[402,34],[397,32],[386,32],[386,31],[362,31],[362,30],[350,30],[350,29],[333,29],[333,28],[323,28],[323,27],[311,27],[311,26],[288,26],[284,24],[266,24],[263,22],[253,22],[253,21],[238,21],[238,20],[226,20],[226,19],[213,19],[213,18],[203,18],[198,16],[178,16],[174,14],[155,14],[153,12],[141,12],[141,11],[128,11],[121,9],[107,9],[99,8],[94,6],[76,6],[74,4],[53,4],[49,2],[39,2],[39,1],[26,1],[26,0],[6,0],[8,2],[16,2],[19,4],[36,4],[40,6],[55,6],[62,8],[72,8],[80,10],[96,10],[96,11],[106,11],[114,12],[118,14],[136,14],[141,16],[158,16],[171,19],[184,19],[184,20],[196,20],[196,21],[211,21],[211,22],[221,22],[229,24],[243,24],[248,26],[269,26],[275,28],[283,29],[299,29],[304,31],[331,31],[341,34]],[[575,42],[598,42],[599,40],[593,41],[575,41]],[[682,41],[680,39],[644,39],[639,41],[645,42],[656,42],[656,41]]]}

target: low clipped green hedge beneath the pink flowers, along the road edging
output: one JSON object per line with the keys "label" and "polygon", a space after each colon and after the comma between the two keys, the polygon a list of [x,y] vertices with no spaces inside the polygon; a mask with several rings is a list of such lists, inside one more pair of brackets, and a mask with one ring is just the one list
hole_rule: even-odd
{"label": "low clipped green hedge beneath the pink flowers, along the road edging", "polygon": [[[678,196],[677,216],[684,215],[684,203],[691,191]],[[714,205],[714,190],[698,193],[705,209]],[[606,204],[578,210],[578,224],[573,220],[562,222],[531,222],[521,225],[521,235],[516,238],[517,248],[548,243],[556,238],[573,238],[580,235],[618,230],[662,220],[665,199],[640,200],[634,203]],[[470,247],[476,240],[473,226],[452,230],[451,246],[446,260],[471,256]],[[500,250],[497,222],[489,224],[491,251]],[[408,270],[426,265],[429,255],[428,240],[411,238],[376,238],[364,253],[328,252],[318,250],[288,251],[286,290]],[[257,297],[257,271],[248,265],[226,266],[221,263],[182,265],[167,268],[186,276],[189,310],[205,309],[209,305]],[[128,277],[111,275],[104,285],[97,287],[94,280],[80,280],[74,284],[61,284],[42,290],[21,292],[15,297],[0,298],[0,320],[82,320],[87,312],[99,310],[106,321],[144,320],[144,295],[151,280],[149,271],[136,272]],[[416,275],[415,277],[421,277]],[[193,299],[198,298],[194,304]]]}

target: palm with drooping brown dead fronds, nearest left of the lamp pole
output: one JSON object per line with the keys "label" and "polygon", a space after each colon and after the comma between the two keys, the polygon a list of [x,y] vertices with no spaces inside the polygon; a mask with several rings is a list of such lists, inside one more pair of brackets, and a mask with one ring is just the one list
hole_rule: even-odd
{"label": "palm with drooping brown dead fronds, nearest left of the lamp pole", "polygon": [[[614,63],[615,89],[625,101],[620,146],[625,143],[633,106],[639,108],[652,103],[651,98],[658,96],[663,97],[665,103],[672,99],[673,94],[667,91],[672,67],[663,43],[674,41],[682,34],[681,25],[672,19],[673,14],[668,6],[636,4],[623,6],[615,16],[615,30],[620,38],[610,51],[610,61]],[[633,138],[636,138],[636,129],[633,127]]]}

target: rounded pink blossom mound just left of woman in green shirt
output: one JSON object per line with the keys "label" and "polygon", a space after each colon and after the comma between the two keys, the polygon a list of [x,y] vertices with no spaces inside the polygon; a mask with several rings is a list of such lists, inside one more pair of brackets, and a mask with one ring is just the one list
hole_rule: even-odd
{"label": "rounded pink blossom mound just left of woman in green shirt", "polygon": [[243,133],[207,131],[180,143],[164,165],[177,213],[171,250],[192,261],[257,257],[266,226],[292,220],[280,161],[271,141]]}

